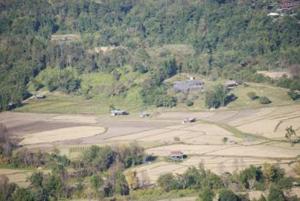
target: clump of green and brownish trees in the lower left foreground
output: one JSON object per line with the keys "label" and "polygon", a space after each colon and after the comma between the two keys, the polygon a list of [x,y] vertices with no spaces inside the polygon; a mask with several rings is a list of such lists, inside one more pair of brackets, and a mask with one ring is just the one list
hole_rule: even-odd
{"label": "clump of green and brownish trees in the lower left foreground", "polygon": [[[126,176],[126,168],[142,164],[146,160],[143,148],[130,146],[91,146],[77,160],[70,161],[57,150],[53,153],[21,149],[6,156],[6,164],[13,167],[38,168],[29,178],[28,188],[18,187],[0,178],[0,200],[47,201],[63,198],[82,198],[89,187],[95,198],[128,195],[131,189],[140,187],[136,175]],[[45,174],[40,169],[50,169]],[[73,169],[73,171],[69,171]],[[71,183],[74,185],[70,185]],[[75,181],[75,182],[74,182]],[[129,181],[129,183],[128,183]],[[135,182],[135,183],[134,183]],[[129,185],[130,184],[130,185]]]}

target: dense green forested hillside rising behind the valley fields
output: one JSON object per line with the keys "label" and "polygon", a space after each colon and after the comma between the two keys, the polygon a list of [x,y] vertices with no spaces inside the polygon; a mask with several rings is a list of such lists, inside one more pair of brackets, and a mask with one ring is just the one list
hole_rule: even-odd
{"label": "dense green forested hillside rising behind the valley fields", "polygon": [[[163,81],[179,72],[273,82],[256,70],[285,69],[294,78],[274,84],[300,89],[300,10],[268,16],[278,8],[275,0],[1,1],[0,109],[43,87],[86,98],[135,88],[144,104],[172,106]],[[96,72],[121,81],[86,84],[82,75]]]}

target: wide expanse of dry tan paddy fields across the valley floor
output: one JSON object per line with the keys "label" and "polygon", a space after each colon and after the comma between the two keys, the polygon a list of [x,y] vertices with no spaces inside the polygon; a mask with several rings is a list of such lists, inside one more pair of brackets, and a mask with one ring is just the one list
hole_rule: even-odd
{"label": "wide expanse of dry tan paddy fields across the valley floor", "polygon": [[[198,121],[182,124],[186,117],[196,117]],[[0,113],[0,122],[22,139],[20,143],[25,147],[55,146],[66,154],[68,149],[80,152],[91,144],[140,143],[147,153],[159,157],[157,162],[134,168],[152,183],[163,173],[182,173],[199,164],[219,174],[251,164],[274,163],[292,175],[292,162],[300,155],[300,145],[291,147],[284,139],[288,126],[300,134],[299,104],[237,111],[164,112],[145,119]],[[165,158],[171,151],[182,151],[188,157],[180,163],[170,162]]]}

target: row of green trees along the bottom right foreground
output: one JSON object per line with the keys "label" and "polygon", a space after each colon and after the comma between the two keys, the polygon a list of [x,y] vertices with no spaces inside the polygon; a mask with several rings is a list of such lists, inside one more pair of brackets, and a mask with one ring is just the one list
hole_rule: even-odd
{"label": "row of green trees along the bottom right foreground", "polygon": [[200,191],[201,201],[212,201],[217,195],[219,201],[248,201],[247,195],[234,193],[248,190],[268,190],[267,197],[262,195],[260,200],[286,201],[297,200],[296,197],[287,197],[283,193],[292,188],[293,181],[278,166],[264,164],[263,167],[250,166],[239,173],[221,176],[206,171],[201,166],[192,167],[183,174],[161,175],[157,183],[164,191],[197,189]]}

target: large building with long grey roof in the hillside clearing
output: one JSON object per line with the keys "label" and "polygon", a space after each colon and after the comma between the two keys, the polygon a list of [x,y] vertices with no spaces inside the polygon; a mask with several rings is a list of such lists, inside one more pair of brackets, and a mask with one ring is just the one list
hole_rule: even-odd
{"label": "large building with long grey roof in the hillside clearing", "polygon": [[185,80],[174,82],[173,88],[176,92],[202,91],[204,82],[201,80]]}

